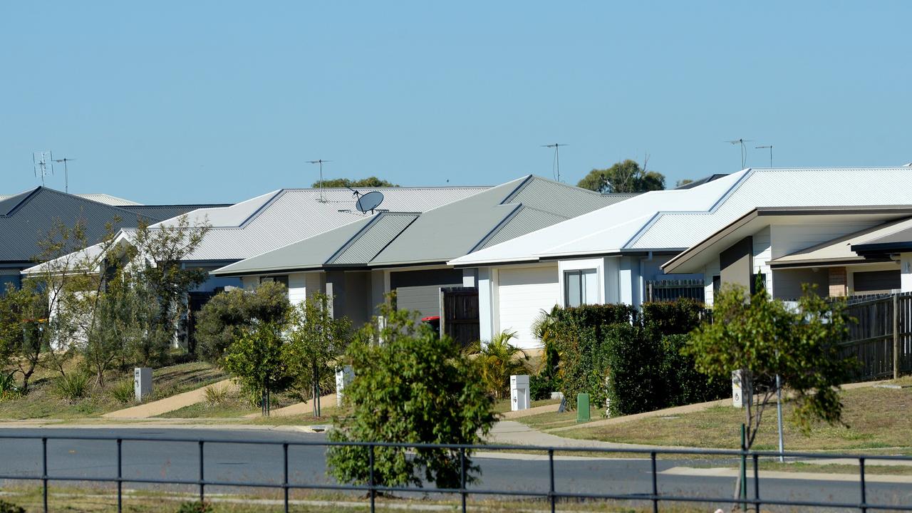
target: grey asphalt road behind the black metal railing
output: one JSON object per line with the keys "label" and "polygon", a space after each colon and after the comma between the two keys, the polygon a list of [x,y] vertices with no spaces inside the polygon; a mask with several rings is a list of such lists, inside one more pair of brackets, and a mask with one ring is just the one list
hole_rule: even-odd
{"label": "grey asphalt road behind the black metal railing", "polygon": [[[204,474],[208,480],[224,482],[255,481],[281,484],[283,457],[281,445],[246,445],[239,441],[324,441],[323,434],[297,434],[270,431],[216,431],[183,429],[3,429],[0,430],[0,475],[40,476],[41,441],[3,438],[12,434],[47,436],[92,435],[153,438],[204,438]],[[289,481],[295,484],[330,484],[326,476],[326,449],[321,446],[289,448]],[[482,468],[480,483],[470,489],[547,492],[547,461],[531,461],[523,455],[477,457]],[[125,478],[187,479],[199,477],[199,446],[194,443],[124,441],[122,473]],[[687,460],[658,460],[658,491],[687,497],[731,497],[733,479],[716,476],[661,474],[671,467],[705,466]],[[108,477],[117,475],[114,441],[55,440],[47,442],[48,476]],[[870,471],[869,471],[870,472]],[[53,485],[52,485],[53,486]],[[128,488],[144,485],[127,484]],[[146,487],[162,488],[159,485]],[[554,487],[565,493],[648,494],[651,491],[650,462],[638,459],[558,459],[554,464]],[[188,489],[174,487],[174,489]],[[193,488],[195,489],[195,488]],[[761,478],[761,497],[857,503],[856,482]],[[211,492],[233,489],[211,487]],[[750,487],[751,496],[753,488]],[[912,485],[870,483],[868,503],[912,504]],[[767,509],[767,508],[764,508]],[[771,508],[775,509],[775,508]],[[710,509],[711,510],[711,509]],[[796,508],[795,510],[804,510]],[[836,511],[834,508],[815,509]],[[857,509],[855,509],[857,510]]]}

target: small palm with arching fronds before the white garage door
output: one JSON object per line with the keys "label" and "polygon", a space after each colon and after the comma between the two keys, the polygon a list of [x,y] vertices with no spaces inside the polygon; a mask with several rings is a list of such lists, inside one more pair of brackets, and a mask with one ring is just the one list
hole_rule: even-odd
{"label": "small palm with arching fronds before the white garage door", "polygon": [[510,393],[511,375],[529,372],[529,355],[510,343],[515,337],[515,331],[502,331],[487,343],[477,341],[466,348],[468,354],[475,355],[482,380],[496,399]]}

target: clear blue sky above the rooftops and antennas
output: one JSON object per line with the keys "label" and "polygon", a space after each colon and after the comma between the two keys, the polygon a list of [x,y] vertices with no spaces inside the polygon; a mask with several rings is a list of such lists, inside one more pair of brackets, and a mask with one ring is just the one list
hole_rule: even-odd
{"label": "clear blue sky above the rooftops and antennas", "polygon": [[[327,176],[912,161],[912,3],[4,2],[0,193],[234,202]],[[62,170],[59,170],[62,171]],[[48,179],[63,189],[63,176]]]}

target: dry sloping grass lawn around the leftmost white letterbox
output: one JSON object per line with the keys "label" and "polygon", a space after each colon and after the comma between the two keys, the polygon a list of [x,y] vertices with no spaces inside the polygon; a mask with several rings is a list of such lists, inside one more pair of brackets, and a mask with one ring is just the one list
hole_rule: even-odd
{"label": "dry sloping grass lawn around the leftmost white letterbox", "polygon": [[[76,363],[71,364],[71,371]],[[132,383],[132,372],[110,372],[105,388],[90,385],[88,396],[77,401],[61,399],[55,390],[59,374],[39,369],[32,376],[29,392],[18,398],[0,402],[0,420],[72,419],[97,417],[126,408],[133,403],[121,403],[113,397],[111,389],[119,383]],[[202,361],[161,367],[152,371],[153,393],[151,401],[188,392],[201,386],[218,382],[227,376],[210,363]]]}

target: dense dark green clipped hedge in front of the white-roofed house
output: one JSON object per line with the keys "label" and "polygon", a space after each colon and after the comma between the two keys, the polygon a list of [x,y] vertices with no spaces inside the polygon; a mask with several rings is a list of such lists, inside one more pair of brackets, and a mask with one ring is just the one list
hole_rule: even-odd
{"label": "dense dark green clipped hedge in front of the white-roofed house", "polygon": [[680,352],[704,311],[679,299],[644,304],[642,312],[622,304],[554,312],[567,404],[575,407],[576,394],[589,393],[593,404],[607,403],[617,415],[723,397],[727,383],[710,383]]}

